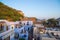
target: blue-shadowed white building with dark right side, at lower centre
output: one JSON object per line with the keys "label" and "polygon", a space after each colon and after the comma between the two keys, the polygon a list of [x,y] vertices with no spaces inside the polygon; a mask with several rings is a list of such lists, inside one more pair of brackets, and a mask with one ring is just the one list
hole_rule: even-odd
{"label": "blue-shadowed white building with dark right side, at lower centre", "polygon": [[26,21],[20,21],[21,24],[27,23],[21,28],[15,28],[14,33],[15,33],[15,38],[16,39],[25,39],[25,40],[32,40],[33,38],[33,27],[31,24],[29,24]]}

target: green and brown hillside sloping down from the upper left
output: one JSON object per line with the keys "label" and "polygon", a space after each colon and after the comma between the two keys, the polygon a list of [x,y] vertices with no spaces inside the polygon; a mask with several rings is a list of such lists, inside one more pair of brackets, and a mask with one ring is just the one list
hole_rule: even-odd
{"label": "green and brown hillside sloping down from the upper left", "polygon": [[5,19],[8,21],[18,21],[21,17],[23,12],[19,13],[16,9],[13,9],[7,5],[4,5],[0,2],[0,19]]}

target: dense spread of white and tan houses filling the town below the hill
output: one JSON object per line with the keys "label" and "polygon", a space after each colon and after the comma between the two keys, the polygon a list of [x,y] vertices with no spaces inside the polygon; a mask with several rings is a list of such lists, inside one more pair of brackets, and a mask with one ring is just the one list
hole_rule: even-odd
{"label": "dense spread of white and tan houses filling the town below the hill", "polygon": [[[60,19],[57,19],[60,26]],[[59,40],[60,28],[47,28],[42,20],[24,18],[21,21],[0,20],[0,40]]]}

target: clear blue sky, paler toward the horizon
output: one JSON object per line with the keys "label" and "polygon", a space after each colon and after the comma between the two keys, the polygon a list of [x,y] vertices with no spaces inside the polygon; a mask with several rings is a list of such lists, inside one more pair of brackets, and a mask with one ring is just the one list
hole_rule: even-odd
{"label": "clear blue sky, paler toward the horizon", "polygon": [[59,18],[60,0],[0,0],[17,10],[22,10],[25,16],[36,18]]}

